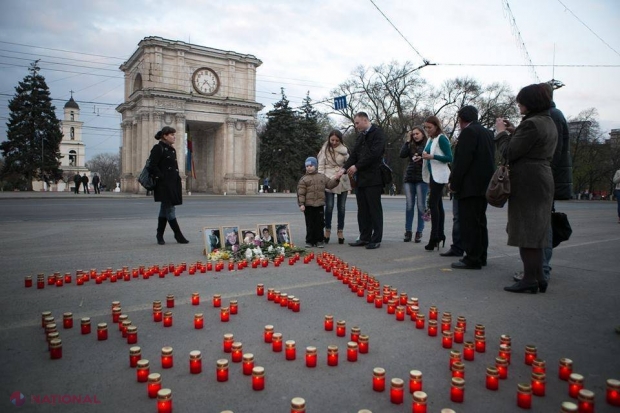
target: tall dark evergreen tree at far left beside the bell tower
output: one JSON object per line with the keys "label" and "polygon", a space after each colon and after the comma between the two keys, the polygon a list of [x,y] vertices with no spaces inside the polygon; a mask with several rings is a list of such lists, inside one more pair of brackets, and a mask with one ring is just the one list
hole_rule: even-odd
{"label": "tall dark evergreen tree at far left beside the bell tower", "polygon": [[62,178],[60,122],[37,63],[30,65],[30,74],[15,88],[9,102],[7,140],[0,144],[5,158],[2,177],[25,180],[30,191],[33,179],[56,182]]}

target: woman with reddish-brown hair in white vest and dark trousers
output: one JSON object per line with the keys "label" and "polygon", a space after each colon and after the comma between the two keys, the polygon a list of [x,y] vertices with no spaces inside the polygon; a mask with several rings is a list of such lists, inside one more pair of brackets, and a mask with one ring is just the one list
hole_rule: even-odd
{"label": "woman with reddish-brown hair in white vest and dark trousers", "polygon": [[452,150],[450,141],[443,134],[441,122],[437,116],[429,116],[424,121],[424,130],[428,134],[428,143],[422,152],[422,177],[429,184],[431,193],[428,199],[428,207],[431,210],[431,237],[424,246],[427,251],[432,251],[439,243],[446,244],[444,234],[445,214],[443,210],[443,187],[450,178],[448,163],[452,162]]}

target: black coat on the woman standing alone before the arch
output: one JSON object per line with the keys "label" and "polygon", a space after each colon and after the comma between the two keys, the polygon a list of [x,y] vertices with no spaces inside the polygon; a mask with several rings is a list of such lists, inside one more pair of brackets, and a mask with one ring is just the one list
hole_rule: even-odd
{"label": "black coat on the woman standing alone before the arch", "polygon": [[156,179],[153,196],[155,202],[169,205],[183,203],[181,177],[177,164],[177,151],[170,145],[159,142],[151,149],[149,173]]}

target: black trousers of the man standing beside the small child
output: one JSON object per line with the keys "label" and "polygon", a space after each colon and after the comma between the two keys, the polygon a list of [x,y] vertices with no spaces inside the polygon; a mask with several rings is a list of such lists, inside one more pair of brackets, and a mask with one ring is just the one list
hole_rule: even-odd
{"label": "black trousers of the man standing beside the small child", "polygon": [[360,241],[378,243],[383,239],[382,185],[357,187],[357,225]]}

